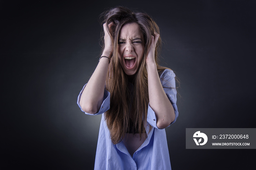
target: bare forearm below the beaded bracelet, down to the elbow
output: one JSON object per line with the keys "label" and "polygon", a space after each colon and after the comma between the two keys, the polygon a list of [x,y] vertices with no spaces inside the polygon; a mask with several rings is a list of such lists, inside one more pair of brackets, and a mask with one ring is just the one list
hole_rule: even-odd
{"label": "bare forearm below the beaded bracelet, down to the elbow", "polygon": [[101,107],[104,96],[108,64],[108,58],[101,58],[93,75],[83,90],[80,99],[80,106],[82,107],[82,110],[87,113],[95,114]]}

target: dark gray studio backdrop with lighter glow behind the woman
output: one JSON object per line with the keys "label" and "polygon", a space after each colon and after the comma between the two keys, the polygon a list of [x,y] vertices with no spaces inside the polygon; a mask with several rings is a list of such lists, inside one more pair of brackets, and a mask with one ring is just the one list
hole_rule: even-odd
{"label": "dark gray studio backdrop with lighter glow behind the woman", "polygon": [[186,150],[185,128],[255,128],[255,1],[1,1],[1,168],[93,169],[101,116],[77,96],[100,55],[99,15],[146,11],[180,79],[173,170],[250,169],[255,150]]}

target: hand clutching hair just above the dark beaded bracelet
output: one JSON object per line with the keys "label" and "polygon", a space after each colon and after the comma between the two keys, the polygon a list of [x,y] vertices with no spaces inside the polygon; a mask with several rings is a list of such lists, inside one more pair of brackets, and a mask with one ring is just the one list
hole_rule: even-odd
{"label": "hand clutching hair just above the dark beaded bracelet", "polygon": [[[110,23],[108,25],[110,30],[111,30],[111,27],[113,26],[113,24],[114,23],[112,22],[112,23]],[[108,33],[108,29],[107,29],[106,23],[103,24],[103,29],[104,29],[104,33],[105,33],[105,35],[104,35],[105,48],[104,48],[104,50],[102,52],[102,56],[107,56],[107,57],[111,58],[112,57],[112,53],[113,53],[113,43],[112,43],[112,40],[111,40],[110,35]]]}

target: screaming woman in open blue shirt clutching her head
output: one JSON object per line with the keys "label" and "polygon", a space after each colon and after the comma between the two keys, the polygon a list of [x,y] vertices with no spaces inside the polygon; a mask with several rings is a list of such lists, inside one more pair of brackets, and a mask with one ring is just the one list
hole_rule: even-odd
{"label": "screaming woman in open blue shirt clutching her head", "polygon": [[78,105],[102,114],[94,169],[171,169],[165,128],[178,116],[175,74],[158,64],[159,28],[146,13],[105,12],[104,46]]}

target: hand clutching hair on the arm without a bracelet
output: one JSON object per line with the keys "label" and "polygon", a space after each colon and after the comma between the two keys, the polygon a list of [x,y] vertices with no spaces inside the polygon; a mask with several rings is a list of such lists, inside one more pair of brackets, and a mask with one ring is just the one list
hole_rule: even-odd
{"label": "hand clutching hair on the arm without a bracelet", "polygon": [[157,44],[159,34],[154,32],[154,36],[151,35],[150,46],[147,51],[146,64],[155,63],[155,46]]}

